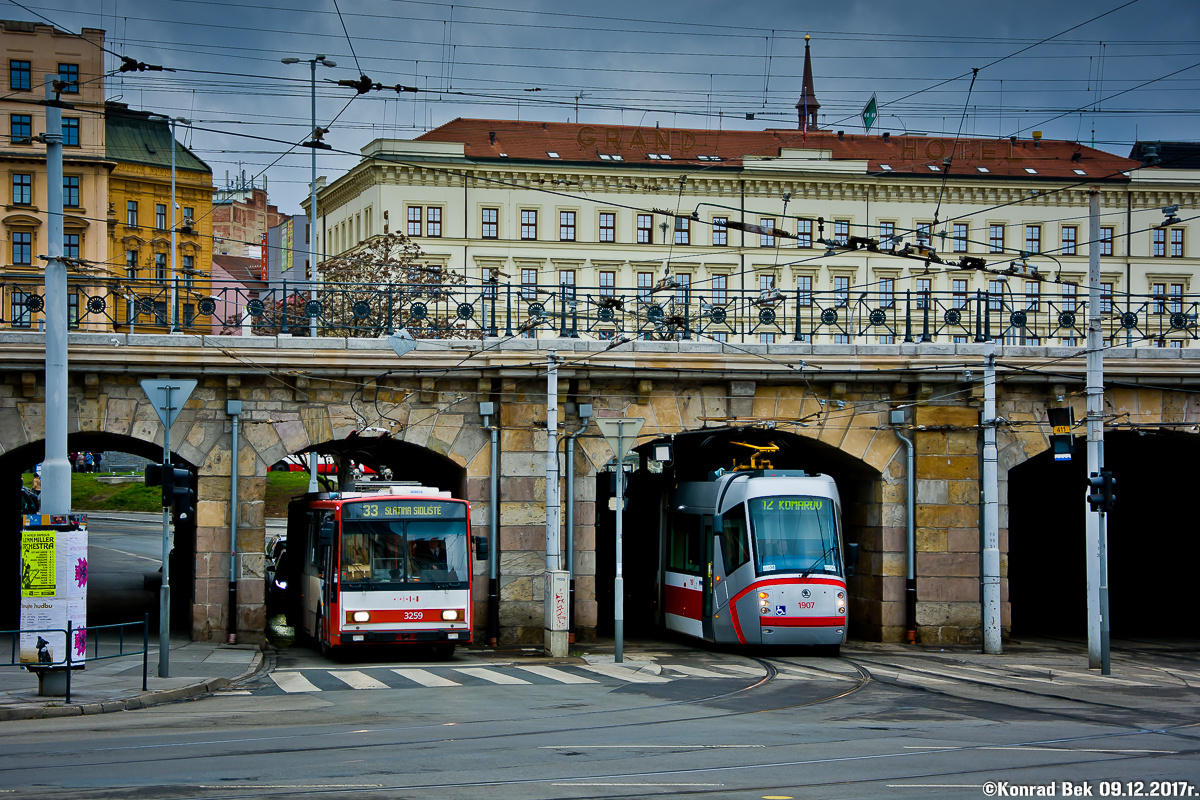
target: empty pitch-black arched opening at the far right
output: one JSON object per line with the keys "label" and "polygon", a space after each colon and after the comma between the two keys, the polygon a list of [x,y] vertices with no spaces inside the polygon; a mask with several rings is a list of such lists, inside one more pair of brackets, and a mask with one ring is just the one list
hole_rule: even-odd
{"label": "empty pitch-black arched opening at the far right", "polygon": [[[1200,485],[1200,438],[1111,431],[1104,463],[1116,480],[1108,517],[1109,619],[1114,639],[1200,639],[1190,570],[1200,559],[1195,515],[1182,501]],[[1070,462],[1049,451],[1008,477],[1012,634],[1087,636],[1085,530],[1087,447]]]}

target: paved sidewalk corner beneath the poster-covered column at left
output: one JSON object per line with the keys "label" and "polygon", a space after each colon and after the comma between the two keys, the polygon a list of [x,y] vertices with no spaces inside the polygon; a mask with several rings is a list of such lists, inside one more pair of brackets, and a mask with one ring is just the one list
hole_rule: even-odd
{"label": "paved sidewalk corner beneath the poster-covered column at left", "polygon": [[37,675],[20,667],[0,668],[0,721],[38,720],[140,709],[206,694],[250,678],[263,668],[258,645],[226,645],[170,639],[169,678],[158,678],[158,648],[151,644],[146,691],[142,691],[142,655],[89,663],[71,675],[71,702],[40,697]]}

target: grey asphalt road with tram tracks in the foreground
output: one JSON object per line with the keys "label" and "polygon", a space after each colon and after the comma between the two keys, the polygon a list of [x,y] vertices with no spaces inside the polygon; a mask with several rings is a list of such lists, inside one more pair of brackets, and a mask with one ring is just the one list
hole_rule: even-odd
{"label": "grey asphalt road with tram tracks in the foreground", "polygon": [[[1121,796],[1136,788],[1124,782],[1142,781],[1148,795],[1151,781],[1182,781],[1169,784],[1169,796],[1200,794],[1192,688],[1165,703],[1154,690],[1132,688],[1154,702],[1124,708],[1103,694],[1067,703],[1013,680],[992,687],[948,670],[876,679],[869,652],[755,660],[674,645],[641,655],[644,662],[629,666],[660,680],[618,680],[599,662],[598,670],[553,664],[590,679],[562,682],[536,679],[538,662],[478,654],[330,663],[298,651],[270,676],[197,702],[6,723],[0,790],[799,800],[983,798],[996,781],[1054,783],[1054,796],[1063,796],[1064,781],[1091,796],[1116,786],[1109,781],[1121,782]],[[403,685],[353,685],[397,669],[408,675]],[[314,688],[283,691],[280,673]],[[344,691],[334,691],[338,682]]]}

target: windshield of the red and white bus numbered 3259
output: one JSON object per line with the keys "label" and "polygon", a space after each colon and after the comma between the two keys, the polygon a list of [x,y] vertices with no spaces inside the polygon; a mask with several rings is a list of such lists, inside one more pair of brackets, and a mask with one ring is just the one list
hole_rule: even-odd
{"label": "windshield of the red and white bus numbered 3259", "polygon": [[464,584],[469,554],[462,519],[342,522],[342,583],[359,588]]}

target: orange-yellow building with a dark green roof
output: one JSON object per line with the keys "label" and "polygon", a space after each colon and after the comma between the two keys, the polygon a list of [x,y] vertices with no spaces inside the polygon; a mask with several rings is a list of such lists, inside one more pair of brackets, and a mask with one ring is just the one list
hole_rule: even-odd
{"label": "orange-yellow building with a dark green roof", "polygon": [[108,180],[108,264],[125,278],[113,314],[118,330],[132,326],[209,332],[199,301],[212,275],[212,169],[175,145],[175,259],[170,253],[169,122],[124,103],[104,113]]}

